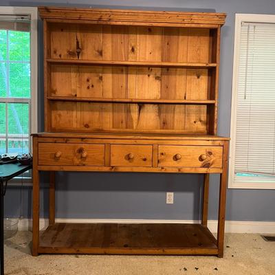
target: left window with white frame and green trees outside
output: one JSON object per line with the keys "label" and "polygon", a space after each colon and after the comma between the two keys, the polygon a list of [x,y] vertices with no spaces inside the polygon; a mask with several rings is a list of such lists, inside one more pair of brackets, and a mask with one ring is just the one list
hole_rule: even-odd
{"label": "left window with white frame and green trees outside", "polygon": [[32,151],[37,131],[37,9],[0,7],[0,153]]}

